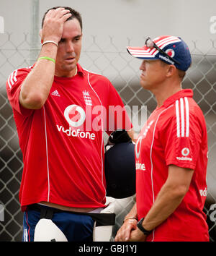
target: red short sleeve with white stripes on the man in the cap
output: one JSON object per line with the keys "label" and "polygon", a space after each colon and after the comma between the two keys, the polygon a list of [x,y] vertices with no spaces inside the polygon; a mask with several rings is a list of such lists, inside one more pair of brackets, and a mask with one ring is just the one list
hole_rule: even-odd
{"label": "red short sleeve with white stripes on the man in the cap", "polygon": [[202,130],[194,114],[189,113],[182,121],[176,119],[176,115],[171,116],[164,123],[160,136],[167,166],[174,164],[182,168],[195,168],[202,143]]}

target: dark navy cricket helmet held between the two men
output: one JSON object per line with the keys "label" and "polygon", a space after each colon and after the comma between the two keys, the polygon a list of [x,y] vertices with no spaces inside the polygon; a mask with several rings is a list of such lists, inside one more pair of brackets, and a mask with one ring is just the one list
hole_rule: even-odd
{"label": "dark navy cricket helmet held between the two men", "polygon": [[104,159],[107,196],[125,198],[135,195],[135,144],[125,130],[112,132],[107,142],[110,144]]}

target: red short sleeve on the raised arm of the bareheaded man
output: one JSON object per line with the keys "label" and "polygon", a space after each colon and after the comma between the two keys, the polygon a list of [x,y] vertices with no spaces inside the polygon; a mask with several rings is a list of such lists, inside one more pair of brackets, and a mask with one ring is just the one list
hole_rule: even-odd
{"label": "red short sleeve on the raised arm of the bareheaded man", "polygon": [[9,103],[14,110],[24,116],[28,116],[32,113],[32,109],[24,108],[19,103],[21,85],[29,72],[30,69],[16,69],[12,74],[10,74],[8,80],[6,80],[6,93]]}

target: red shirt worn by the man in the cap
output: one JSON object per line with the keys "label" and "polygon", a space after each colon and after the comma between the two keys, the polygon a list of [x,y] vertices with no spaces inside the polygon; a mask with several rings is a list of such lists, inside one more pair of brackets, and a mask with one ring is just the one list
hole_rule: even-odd
{"label": "red shirt worn by the man in the cap", "polygon": [[194,170],[189,191],[147,241],[209,241],[202,211],[207,195],[207,129],[192,90],[181,90],[156,108],[135,146],[138,218],[145,217],[168,177],[168,166]]}

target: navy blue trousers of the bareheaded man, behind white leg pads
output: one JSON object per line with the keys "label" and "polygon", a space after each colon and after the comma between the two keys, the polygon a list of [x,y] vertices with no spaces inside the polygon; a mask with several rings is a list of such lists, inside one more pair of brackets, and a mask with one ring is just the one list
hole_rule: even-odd
{"label": "navy blue trousers of the bareheaded man, behind white leg pads", "polygon": [[[45,207],[45,206],[41,206]],[[45,207],[46,208],[46,207]],[[23,218],[23,242],[33,242],[40,210],[27,210]],[[94,220],[91,216],[70,212],[53,213],[53,223],[65,234],[68,242],[92,242]]]}

